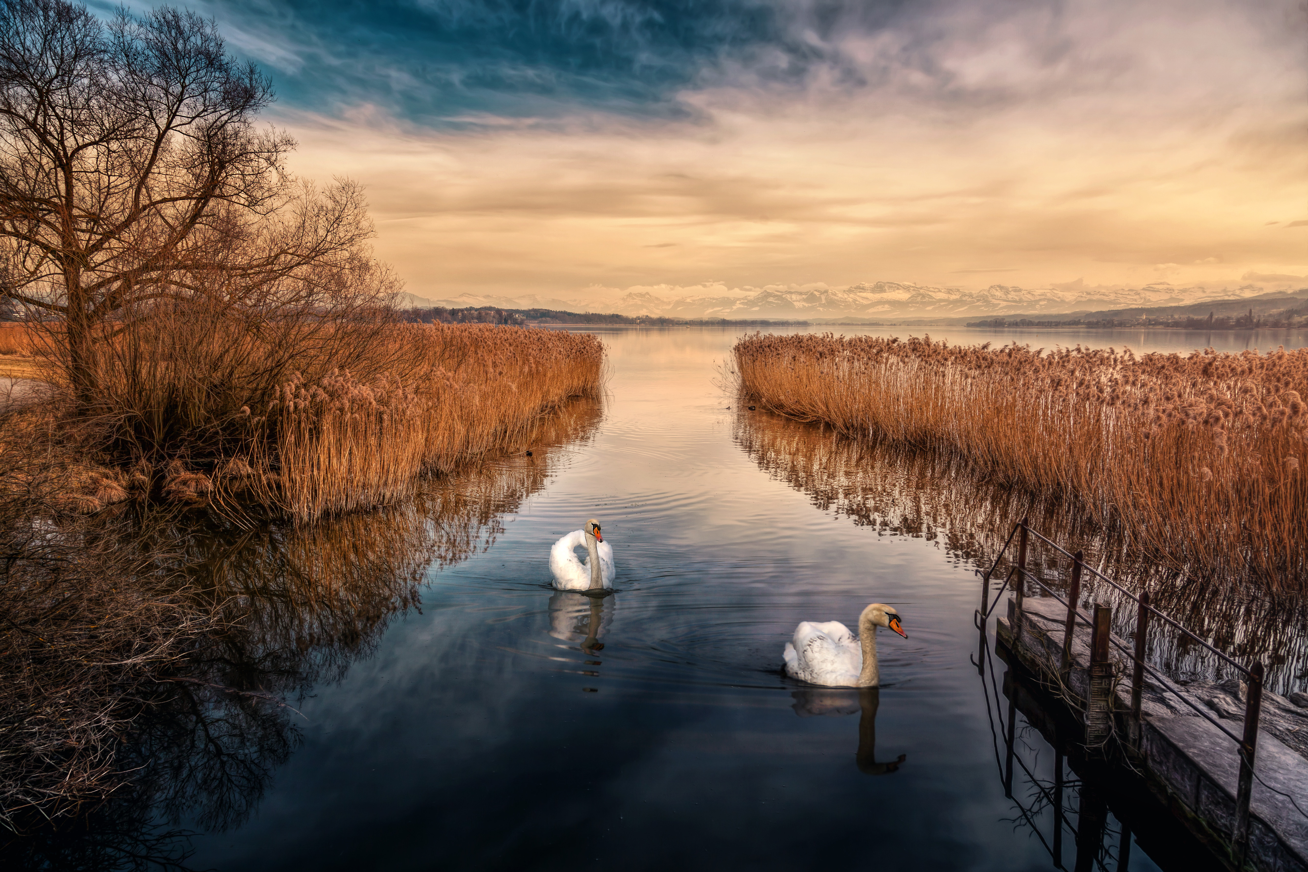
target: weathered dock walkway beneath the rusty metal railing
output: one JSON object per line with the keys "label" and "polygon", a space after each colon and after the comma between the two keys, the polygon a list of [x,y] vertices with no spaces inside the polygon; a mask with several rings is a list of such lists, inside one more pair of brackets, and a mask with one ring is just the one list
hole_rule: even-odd
{"label": "weathered dock walkway beneath the rusty metal railing", "polygon": [[[1019,609],[1020,603],[1020,609]],[[1308,872],[1308,709],[1273,693],[1262,696],[1257,720],[1257,756],[1248,812],[1248,838],[1239,838],[1240,757],[1227,733],[1190,706],[1239,732],[1245,716],[1243,685],[1189,682],[1164,688],[1146,676],[1141,715],[1133,715],[1133,663],[1120,651],[1130,645],[1113,638],[1107,699],[1104,669],[1092,673],[1092,629],[1076,625],[1066,665],[1063,637],[1067,607],[1052,596],[1008,600],[1007,617],[997,621],[997,638],[1008,654],[1053,692],[1082,723],[1107,711],[1109,735],[1091,736],[1105,756],[1139,773],[1155,797],[1209,846],[1231,869]],[[984,625],[982,625],[984,629]],[[1103,648],[1101,648],[1103,650]],[[1125,680],[1121,680],[1125,676]],[[1179,684],[1179,682],[1177,682]],[[1176,690],[1180,690],[1180,694]],[[1099,699],[1092,705],[1092,699]],[[1105,705],[1107,703],[1107,705]],[[1189,703],[1189,705],[1188,705]],[[1099,711],[1092,711],[1099,709]]]}

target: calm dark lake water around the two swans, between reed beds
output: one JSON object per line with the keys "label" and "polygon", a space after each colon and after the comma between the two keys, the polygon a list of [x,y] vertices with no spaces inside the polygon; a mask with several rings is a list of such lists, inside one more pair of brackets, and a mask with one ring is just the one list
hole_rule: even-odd
{"label": "calm dark lake water around the two swans, between reed beds", "polygon": [[[976,667],[974,553],[921,520],[965,515],[973,498],[882,461],[882,520],[859,520],[841,507],[836,468],[853,461],[824,455],[815,428],[734,408],[715,383],[744,331],[596,332],[608,397],[573,411],[572,442],[445,485],[428,503],[443,512],[434,527],[421,511],[364,518],[344,544],[305,545],[336,554],[310,561],[319,583],[362,567],[352,599],[320,607],[331,620],[313,601],[283,609],[293,597],[251,594],[272,617],[241,655],[254,664],[242,667],[247,685],[289,690],[297,711],[259,715],[268,726],[237,731],[221,753],[207,750],[222,744],[208,727],[188,733],[187,773],[200,775],[153,812],[160,833],[192,833],[169,835],[194,851],[184,865],[1052,869],[1054,813],[1040,786],[1058,767],[1073,868],[1082,779],[1019,713],[1031,771],[1019,769],[1006,797],[1005,665],[982,651],[985,675]],[[1137,352],[1308,339],[841,332]],[[553,591],[547,565],[552,543],[590,516],[617,560],[616,592],[598,601]],[[426,565],[419,540],[441,560]],[[419,583],[395,594],[386,586],[412,569],[408,548],[424,554]],[[370,571],[391,573],[377,603]],[[908,633],[880,635],[879,693],[780,673],[799,621],[853,626],[871,601],[895,604]],[[258,654],[273,648],[290,654]],[[230,723],[224,706],[237,703],[205,705]],[[207,753],[222,760],[194,762]],[[215,774],[230,760],[241,774]],[[1126,821],[1124,842],[1117,813],[1095,834],[1103,868],[1202,868],[1147,814]],[[1129,860],[1114,865],[1124,845]]]}

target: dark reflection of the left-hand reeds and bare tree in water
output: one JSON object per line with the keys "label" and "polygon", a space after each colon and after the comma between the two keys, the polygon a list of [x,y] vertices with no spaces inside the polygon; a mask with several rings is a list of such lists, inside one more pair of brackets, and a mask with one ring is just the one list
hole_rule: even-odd
{"label": "dark reflection of the left-hand reeds and bare tree in water", "polygon": [[[188,847],[178,821],[208,831],[243,824],[301,740],[303,699],[374,651],[419,605],[433,567],[489,548],[504,515],[545,485],[556,450],[590,438],[602,414],[598,400],[577,400],[538,422],[530,458],[434,477],[402,505],[311,527],[137,519],[120,545],[174,579],[213,629],[157,676],[154,698],[135,701],[116,790],[81,817],[20,821],[0,851],[31,868],[181,868]],[[587,629],[598,637],[600,626]]]}

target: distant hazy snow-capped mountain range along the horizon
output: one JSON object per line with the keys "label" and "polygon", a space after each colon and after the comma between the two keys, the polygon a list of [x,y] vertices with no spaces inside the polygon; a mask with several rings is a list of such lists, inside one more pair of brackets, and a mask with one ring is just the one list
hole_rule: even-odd
{"label": "distant hazy snow-capped mountain range along the horizon", "polygon": [[[729,319],[841,319],[899,320],[905,318],[969,318],[991,315],[1066,315],[1071,312],[1131,309],[1135,306],[1180,306],[1209,299],[1254,297],[1267,289],[1241,285],[1213,290],[1202,286],[1176,288],[1165,282],[1143,288],[1087,288],[1070,282],[1054,288],[1025,289],[990,285],[985,290],[933,288],[897,281],[858,284],[849,288],[764,289],[748,295],[658,297],[647,292],[628,293],[612,303],[595,301],[459,294],[454,299],[422,299],[415,306],[497,306],[500,309],[556,309],[574,312],[616,312],[666,318]],[[412,297],[412,295],[411,295]]]}

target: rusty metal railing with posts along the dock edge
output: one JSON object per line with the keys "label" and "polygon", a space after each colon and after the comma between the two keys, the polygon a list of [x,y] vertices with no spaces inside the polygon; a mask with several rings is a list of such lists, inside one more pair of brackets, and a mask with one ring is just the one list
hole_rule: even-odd
{"label": "rusty metal railing with posts along the dock edge", "polygon": [[[988,601],[990,600],[990,577],[999,566],[999,561],[1003,558],[1005,553],[1007,553],[1008,546],[1012,545],[1014,536],[1018,536],[1018,562],[1008,571],[1007,577],[1005,577],[1003,583],[995,592],[994,601],[989,603],[988,605]],[[1069,583],[1066,600],[1062,599],[1058,595],[1058,592],[1054,591],[1049,584],[1046,584],[1044,579],[1041,579],[1037,574],[1027,569],[1027,550],[1032,536],[1035,536],[1041,543],[1049,545],[1054,550],[1059,552],[1061,554],[1071,558],[1073,561],[1071,579]],[[1125,645],[1113,638],[1110,631],[1112,609],[1109,607],[1100,605],[1096,603],[1093,614],[1086,614],[1078,608],[1076,604],[1080,600],[1080,582],[1082,577],[1086,573],[1090,573],[1099,580],[1104,582],[1113,590],[1118,591],[1127,600],[1135,603],[1137,608],[1135,608],[1134,650],[1129,650]],[[1067,607],[1067,620],[1063,626],[1063,647],[1062,647],[1062,663],[1061,663],[1061,669],[1065,673],[1067,669],[1071,668],[1071,643],[1076,620],[1079,618],[1087,625],[1090,625],[1091,628],[1090,675],[1092,685],[1091,686],[1092,698],[1087,701],[1088,702],[1087,728],[1093,726],[1091,723],[1092,720],[1101,719],[1105,716],[1107,718],[1112,716],[1110,706],[1112,706],[1112,697],[1114,694],[1109,692],[1108,694],[1101,696],[1097,701],[1093,698],[1096,696],[1093,693],[1093,685],[1096,682],[1096,679],[1103,680],[1107,676],[1110,688],[1112,664],[1109,662],[1109,645],[1112,645],[1117,647],[1124,655],[1126,655],[1126,659],[1134,667],[1131,673],[1131,716],[1135,719],[1137,723],[1141,719],[1141,697],[1144,689],[1144,673],[1148,673],[1150,677],[1152,677],[1160,688],[1173,694],[1188,707],[1194,710],[1196,714],[1198,714],[1201,718],[1203,718],[1210,724],[1216,727],[1224,736],[1231,739],[1231,741],[1236,743],[1236,753],[1239,754],[1240,758],[1240,778],[1236,786],[1236,816],[1235,816],[1235,828],[1232,831],[1232,842],[1241,851],[1247,848],[1249,841],[1249,800],[1253,792],[1253,778],[1254,778],[1253,763],[1258,745],[1258,714],[1262,707],[1262,677],[1264,677],[1262,662],[1254,660],[1252,665],[1244,667],[1243,664],[1231,659],[1230,656],[1227,656],[1224,651],[1215,648],[1206,639],[1188,630],[1181,624],[1179,624],[1177,621],[1172,620],[1171,617],[1168,617],[1167,614],[1152,607],[1150,604],[1148,591],[1144,591],[1139,596],[1135,596],[1125,587],[1122,587],[1113,579],[1108,578],[1107,575],[1096,570],[1093,566],[1086,563],[1082,552],[1076,552],[1074,554],[1067,549],[1059,546],[1053,540],[1041,536],[1039,532],[1036,532],[1027,524],[1025,518],[1014,524],[1012,532],[1008,533],[1008,539],[1005,541],[1003,548],[1001,548],[999,553],[995,556],[994,563],[991,563],[990,569],[988,569],[985,573],[980,574],[982,578],[981,608],[976,613],[976,625],[981,630],[982,645],[985,641],[986,621],[989,620],[990,613],[994,611],[995,605],[998,605],[1005,588],[1011,587],[1014,591],[1015,614],[1020,621],[1022,600],[1025,588],[1024,584],[1025,579],[1033,580],[1046,594],[1049,594],[1052,597],[1054,597],[1065,607]],[[1016,582],[1014,579],[1016,579]],[[1150,621],[1154,618],[1164,621],[1165,624],[1168,624],[1169,626],[1172,626],[1173,629],[1179,630],[1181,634],[1192,639],[1193,642],[1197,642],[1198,645],[1203,646],[1205,648],[1215,654],[1220,660],[1226,662],[1227,664],[1233,667],[1237,672],[1245,676],[1248,689],[1245,693],[1243,736],[1236,736],[1233,732],[1231,732],[1224,726],[1218,723],[1218,720],[1213,715],[1210,715],[1207,711],[1196,705],[1194,701],[1192,701],[1189,697],[1181,693],[1169,680],[1167,680],[1163,675],[1160,675],[1158,669],[1146,663],[1144,641],[1146,641],[1146,634],[1148,631]]]}

